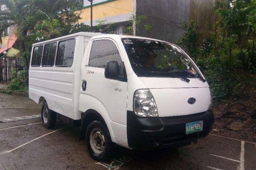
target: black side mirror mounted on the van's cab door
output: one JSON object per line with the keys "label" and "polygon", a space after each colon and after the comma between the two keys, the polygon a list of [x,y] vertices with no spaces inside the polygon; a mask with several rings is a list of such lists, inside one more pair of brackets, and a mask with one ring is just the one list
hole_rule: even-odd
{"label": "black side mirror mounted on the van's cab door", "polygon": [[105,77],[108,79],[119,79],[119,66],[117,61],[108,61],[105,67]]}

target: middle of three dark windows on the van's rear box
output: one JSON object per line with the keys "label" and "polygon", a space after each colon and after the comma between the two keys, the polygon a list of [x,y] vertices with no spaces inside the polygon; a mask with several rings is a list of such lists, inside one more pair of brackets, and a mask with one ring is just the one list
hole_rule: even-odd
{"label": "middle of three dark windows on the van's rear box", "polygon": [[56,48],[57,48],[57,43],[51,43],[51,44],[44,45],[42,66],[52,67],[54,65]]}

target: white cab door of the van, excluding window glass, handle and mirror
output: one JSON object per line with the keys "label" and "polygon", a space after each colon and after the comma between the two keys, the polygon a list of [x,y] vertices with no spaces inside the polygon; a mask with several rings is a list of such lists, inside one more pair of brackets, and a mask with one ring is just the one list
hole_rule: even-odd
{"label": "white cab door of the van, excluding window glass, handle and mirror", "polygon": [[127,142],[127,81],[107,79],[104,75],[107,61],[122,64],[118,46],[106,38],[95,39],[90,46],[86,65],[82,67],[79,105],[98,111],[105,119],[111,137],[114,134],[116,139]]}

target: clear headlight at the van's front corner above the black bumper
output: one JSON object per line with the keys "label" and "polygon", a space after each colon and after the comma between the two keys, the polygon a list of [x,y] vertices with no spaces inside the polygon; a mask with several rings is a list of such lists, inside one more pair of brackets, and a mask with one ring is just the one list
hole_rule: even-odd
{"label": "clear headlight at the van's front corner above the black bumper", "polygon": [[133,96],[133,110],[141,117],[158,117],[157,107],[149,89],[138,89]]}

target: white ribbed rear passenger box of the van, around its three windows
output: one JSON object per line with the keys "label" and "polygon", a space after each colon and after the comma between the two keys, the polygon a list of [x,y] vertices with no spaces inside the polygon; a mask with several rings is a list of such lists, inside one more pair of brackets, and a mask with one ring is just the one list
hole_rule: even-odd
{"label": "white ribbed rear passenger box of the van, around its three windows", "polygon": [[[43,97],[51,110],[71,119],[81,119],[79,111],[79,82],[84,49],[92,36],[100,33],[77,33],[33,44],[32,48],[75,38],[71,67],[31,67],[29,69],[29,97],[39,103]],[[32,49],[33,51],[33,49]],[[31,54],[31,59],[32,59]]]}

